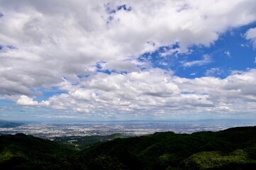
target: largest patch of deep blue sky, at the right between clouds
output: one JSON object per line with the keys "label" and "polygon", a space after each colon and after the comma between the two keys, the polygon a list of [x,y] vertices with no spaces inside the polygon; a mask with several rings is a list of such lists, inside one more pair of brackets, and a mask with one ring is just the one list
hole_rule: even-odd
{"label": "largest patch of deep blue sky, at the right between clouds", "polygon": [[[211,74],[213,77],[225,79],[230,75],[232,70],[246,71],[250,68],[255,68],[255,49],[252,43],[245,39],[244,34],[250,28],[255,28],[256,23],[248,24],[239,28],[227,30],[219,35],[216,42],[213,42],[209,47],[191,46],[189,54],[167,55],[162,57],[160,54],[165,49],[175,49],[179,45],[172,47],[160,47],[152,53],[147,53],[140,57],[140,60],[149,59],[152,67],[160,67],[162,69],[171,69],[174,74],[179,77],[196,78],[207,76],[207,70],[218,68],[220,72]],[[184,67],[182,62],[195,62],[204,60],[204,55],[208,55],[210,60],[203,65],[192,65]]]}

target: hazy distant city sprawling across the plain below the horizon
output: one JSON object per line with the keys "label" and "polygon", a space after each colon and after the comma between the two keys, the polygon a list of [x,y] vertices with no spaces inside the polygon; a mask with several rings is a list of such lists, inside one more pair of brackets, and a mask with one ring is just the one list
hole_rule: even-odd
{"label": "hazy distant city sprawling across the plain below the horizon", "polygon": [[256,123],[33,123],[15,128],[0,128],[1,134],[24,133],[52,140],[64,136],[111,135],[121,133],[126,136],[149,135],[155,132],[172,131],[175,133],[193,133],[200,131],[219,131],[232,127],[253,126]]}

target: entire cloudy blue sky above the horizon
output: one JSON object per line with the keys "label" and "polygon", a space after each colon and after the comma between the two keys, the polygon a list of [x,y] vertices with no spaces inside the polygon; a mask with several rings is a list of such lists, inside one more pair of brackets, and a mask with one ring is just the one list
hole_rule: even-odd
{"label": "entire cloudy blue sky above the horizon", "polygon": [[256,119],[255,0],[0,0],[0,119]]}

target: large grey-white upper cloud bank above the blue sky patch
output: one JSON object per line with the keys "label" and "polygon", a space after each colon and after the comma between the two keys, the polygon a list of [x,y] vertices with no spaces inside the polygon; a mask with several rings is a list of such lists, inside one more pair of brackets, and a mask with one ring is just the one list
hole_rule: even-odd
{"label": "large grey-white upper cloud bank above the blue sky patch", "polygon": [[[109,13],[106,4],[116,13]],[[117,11],[123,4],[131,11]],[[54,86],[60,77],[94,74],[91,68],[97,62],[107,62],[110,70],[132,72],[137,68],[129,60],[145,52],[177,43],[178,52],[190,45],[211,45],[219,33],[256,19],[255,2],[250,0],[11,0],[1,1],[0,11],[1,68],[9,69],[1,70],[0,77],[6,86],[23,86],[1,86],[1,94],[26,95],[35,86]],[[168,54],[172,51],[163,55]],[[118,63],[123,68],[116,67]],[[23,84],[19,77],[33,83]]]}

